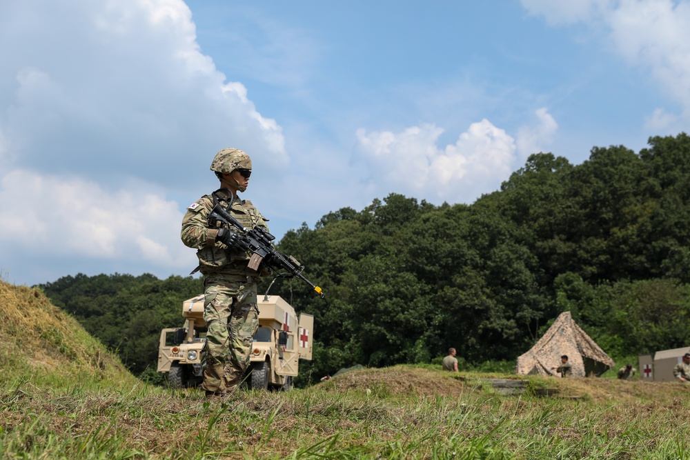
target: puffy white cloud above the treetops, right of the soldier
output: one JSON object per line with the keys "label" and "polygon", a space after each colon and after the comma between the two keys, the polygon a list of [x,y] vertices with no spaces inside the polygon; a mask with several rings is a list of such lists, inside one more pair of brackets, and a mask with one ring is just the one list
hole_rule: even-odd
{"label": "puffy white cloud above the treetops, right of the soldier", "polygon": [[357,130],[364,161],[377,172],[370,188],[406,190],[429,201],[471,202],[509,177],[515,141],[504,130],[484,119],[454,144],[439,148],[442,132],[433,124],[400,133]]}

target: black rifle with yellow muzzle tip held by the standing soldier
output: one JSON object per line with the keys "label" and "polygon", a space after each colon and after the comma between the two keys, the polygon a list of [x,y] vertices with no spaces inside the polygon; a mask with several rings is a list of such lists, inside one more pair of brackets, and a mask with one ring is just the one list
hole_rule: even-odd
{"label": "black rifle with yellow muzzle tip held by the standing soldier", "polygon": [[297,277],[303,281],[306,281],[306,283],[311,286],[311,288],[315,290],[322,299],[324,299],[325,295],[321,288],[319,288],[319,286],[315,286],[314,283],[306,279],[302,274],[304,266],[299,263],[295,257],[286,256],[273,247],[273,243],[271,243],[271,241],[273,241],[275,237],[272,234],[266,232],[266,230],[261,227],[248,229],[242,226],[242,223],[239,223],[239,221],[235,219],[230,212],[224,210],[219,203],[213,207],[213,210],[208,217],[209,219],[216,219],[226,223],[228,226],[233,226],[241,230],[242,233],[248,238],[249,248],[253,252],[252,257],[249,259],[249,268],[259,271],[259,263],[264,262],[267,266],[273,268],[274,270],[287,270],[288,273],[286,274],[285,278]]}

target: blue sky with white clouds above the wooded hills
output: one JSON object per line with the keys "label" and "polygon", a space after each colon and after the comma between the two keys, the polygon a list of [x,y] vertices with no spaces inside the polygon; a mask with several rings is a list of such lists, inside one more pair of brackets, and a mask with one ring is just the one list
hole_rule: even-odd
{"label": "blue sky with white clouds above the wooded hills", "polygon": [[690,0],[0,0],[0,277],[186,275],[224,147],[278,238],[639,151],[688,131],[689,30]]}

